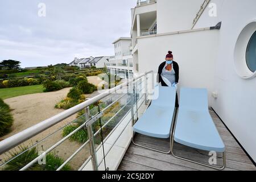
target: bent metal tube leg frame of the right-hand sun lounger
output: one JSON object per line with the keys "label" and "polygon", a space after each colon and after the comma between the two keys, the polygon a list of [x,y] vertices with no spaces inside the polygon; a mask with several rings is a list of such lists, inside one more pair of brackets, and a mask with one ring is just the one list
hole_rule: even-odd
{"label": "bent metal tube leg frame of the right-hand sun lounger", "polygon": [[226,167],[226,152],[225,152],[225,151],[223,152],[223,166],[220,167],[220,168],[214,167],[214,166],[210,166],[210,165],[208,165],[208,164],[196,162],[195,160],[190,160],[190,159],[186,159],[186,158],[183,158],[183,157],[180,157],[180,156],[176,156],[176,155],[174,154],[174,134],[175,134],[175,128],[176,128],[176,122],[175,122],[174,129],[173,129],[172,136],[171,136],[171,153],[172,153],[172,155],[173,155],[175,158],[177,158],[177,159],[182,159],[182,160],[185,160],[185,161],[188,161],[188,162],[191,162],[191,163],[199,164],[199,165],[201,165],[201,166],[210,167],[210,168],[217,169],[217,170],[223,170],[223,169],[225,169],[225,167]]}

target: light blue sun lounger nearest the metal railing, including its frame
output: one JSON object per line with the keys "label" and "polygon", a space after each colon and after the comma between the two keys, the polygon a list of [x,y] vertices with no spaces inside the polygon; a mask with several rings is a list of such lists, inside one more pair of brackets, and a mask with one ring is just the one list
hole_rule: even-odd
{"label": "light blue sun lounger nearest the metal railing, including its frame", "polygon": [[[170,138],[171,140],[171,127],[175,115],[175,99],[176,89],[174,87],[159,86],[159,97],[157,100],[152,100],[150,107],[142,115],[141,118],[135,123],[133,129],[134,133],[146,135],[155,138]],[[137,143],[137,146],[141,146]],[[148,147],[144,147],[148,148]],[[154,151],[169,154],[170,151],[160,151],[154,148],[148,148]]]}

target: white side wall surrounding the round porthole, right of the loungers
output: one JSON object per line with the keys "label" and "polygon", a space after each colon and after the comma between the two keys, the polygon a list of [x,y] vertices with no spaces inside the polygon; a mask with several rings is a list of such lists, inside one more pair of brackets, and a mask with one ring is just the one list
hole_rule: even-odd
{"label": "white side wall surrounding the round porthole, right of the loungers", "polygon": [[[213,109],[256,162],[256,78],[243,80],[234,69],[234,47],[242,29],[256,20],[255,0],[212,0],[217,18],[205,11],[197,28],[222,21],[214,76]],[[250,35],[249,35],[250,36]]]}

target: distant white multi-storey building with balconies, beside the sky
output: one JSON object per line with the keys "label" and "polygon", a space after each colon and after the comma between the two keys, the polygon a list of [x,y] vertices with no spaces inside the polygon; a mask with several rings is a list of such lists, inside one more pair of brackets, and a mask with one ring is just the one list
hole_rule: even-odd
{"label": "distant white multi-storey building with balconies, beside the sky", "polygon": [[113,42],[115,55],[107,64],[109,73],[130,79],[134,76],[133,56],[131,55],[131,38],[119,38]]}

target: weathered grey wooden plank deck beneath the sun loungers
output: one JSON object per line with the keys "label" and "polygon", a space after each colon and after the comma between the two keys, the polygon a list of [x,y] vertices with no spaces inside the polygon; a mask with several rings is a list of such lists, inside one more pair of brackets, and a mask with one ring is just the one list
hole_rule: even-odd
{"label": "weathered grey wooden plank deck beneath the sun loungers", "polygon": [[[228,129],[220,121],[220,118],[210,110],[210,115],[226,146],[226,168],[224,170],[234,171],[256,171],[256,167],[229,133]],[[135,142],[143,146],[155,147],[159,150],[168,151],[170,139],[156,139],[140,134],[135,136]],[[174,152],[178,156],[197,160],[208,164],[208,152],[195,150],[180,144],[174,144]],[[222,156],[218,155],[217,165],[222,164]],[[181,159],[174,158],[171,154],[162,154],[146,148],[130,144],[118,170],[120,171],[194,171],[194,170],[214,170],[212,168],[189,163]]]}

